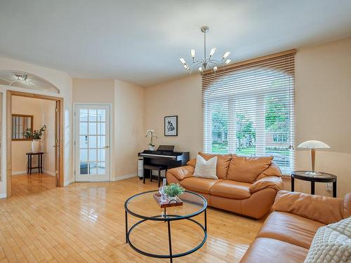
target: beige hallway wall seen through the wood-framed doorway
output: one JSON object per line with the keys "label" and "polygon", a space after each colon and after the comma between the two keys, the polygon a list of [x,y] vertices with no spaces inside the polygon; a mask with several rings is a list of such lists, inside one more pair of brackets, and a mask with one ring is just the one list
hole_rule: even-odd
{"label": "beige hallway wall seen through the wood-framed doorway", "polygon": [[[52,147],[55,137],[55,102],[13,96],[12,113],[33,115],[34,130],[46,125],[46,131],[41,138],[41,151],[44,151],[44,173],[55,175],[55,152]],[[32,151],[32,141],[12,141],[11,146],[12,175],[27,173],[27,156],[25,154]],[[37,156],[34,157],[33,162],[37,163]]]}

